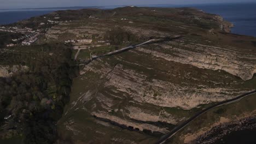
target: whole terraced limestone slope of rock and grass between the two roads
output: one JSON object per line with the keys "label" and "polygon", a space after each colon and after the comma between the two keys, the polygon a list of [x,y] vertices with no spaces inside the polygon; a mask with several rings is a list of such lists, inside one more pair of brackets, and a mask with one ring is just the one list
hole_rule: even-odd
{"label": "whole terraced limestone slope of rock and grass between the two roads", "polygon": [[92,61],[75,80],[81,88],[65,116],[81,110],[97,121],[166,134],[204,106],[253,91],[245,83],[255,73],[255,54],[207,43],[183,38]]}

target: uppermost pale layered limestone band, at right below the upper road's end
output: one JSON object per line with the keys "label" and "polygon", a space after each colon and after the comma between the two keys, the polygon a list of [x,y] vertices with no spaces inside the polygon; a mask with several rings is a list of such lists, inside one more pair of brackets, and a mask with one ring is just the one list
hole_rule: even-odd
{"label": "uppermost pale layered limestone band, at right below the upper road's end", "polygon": [[[183,47],[181,47],[183,45]],[[184,44],[182,41],[170,42],[160,46],[170,54],[149,49],[138,49],[155,57],[183,64],[191,64],[198,68],[224,70],[242,80],[252,79],[256,71],[256,55],[230,50],[231,47],[209,46],[201,44]]]}

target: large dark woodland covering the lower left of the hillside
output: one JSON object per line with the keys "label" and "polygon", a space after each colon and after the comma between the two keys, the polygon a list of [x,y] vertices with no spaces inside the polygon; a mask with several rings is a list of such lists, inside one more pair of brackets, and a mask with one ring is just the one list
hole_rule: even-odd
{"label": "large dark woodland covering the lower left of the hillside", "polygon": [[77,74],[66,45],[46,44],[39,49],[33,55],[24,55],[22,63],[30,67],[29,72],[0,79],[0,111],[11,115],[8,121],[14,123],[8,128],[18,129],[23,143],[56,140],[55,124],[69,101],[72,79]]}

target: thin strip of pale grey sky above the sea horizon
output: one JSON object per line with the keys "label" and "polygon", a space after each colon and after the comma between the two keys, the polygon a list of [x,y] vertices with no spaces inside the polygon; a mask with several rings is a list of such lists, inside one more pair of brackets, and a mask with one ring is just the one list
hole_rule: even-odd
{"label": "thin strip of pale grey sky above the sea horizon", "polygon": [[143,4],[201,4],[256,2],[256,0],[0,0],[0,9],[86,7]]}

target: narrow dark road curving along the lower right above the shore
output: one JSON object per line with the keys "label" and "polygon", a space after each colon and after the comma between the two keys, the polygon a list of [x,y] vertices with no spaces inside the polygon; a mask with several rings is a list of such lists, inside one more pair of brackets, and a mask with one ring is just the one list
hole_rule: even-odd
{"label": "narrow dark road curving along the lower right above the shore", "polygon": [[215,108],[215,107],[218,107],[218,106],[222,106],[222,105],[226,105],[226,104],[230,104],[230,103],[234,103],[235,101],[238,101],[238,100],[241,100],[242,98],[244,97],[247,97],[248,95],[251,95],[251,94],[255,94],[256,93],[256,90],[255,91],[252,91],[252,92],[248,92],[248,93],[245,93],[245,94],[242,94],[242,95],[239,95],[238,97],[234,98],[234,99],[230,99],[230,100],[225,100],[225,101],[222,101],[218,104],[214,104],[198,113],[196,113],[193,117],[189,118],[187,121],[183,122],[182,124],[178,125],[177,127],[175,127],[174,129],[172,129],[170,131],[170,133],[168,133],[167,135],[161,137],[161,139],[156,142],[157,144],[160,144],[160,143],[165,143],[166,140],[168,139],[171,139],[173,135],[175,135],[179,130],[182,130],[185,126],[187,126],[190,122],[192,122],[195,118],[201,116],[203,113],[207,112],[207,111],[210,111],[211,109]]}

